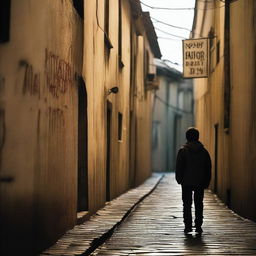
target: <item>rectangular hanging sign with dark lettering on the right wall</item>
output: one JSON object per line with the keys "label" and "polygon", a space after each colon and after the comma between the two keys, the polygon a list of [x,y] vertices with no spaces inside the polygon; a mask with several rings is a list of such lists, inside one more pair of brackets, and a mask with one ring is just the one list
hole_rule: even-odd
{"label": "rectangular hanging sign with dark lettering on the right wall", "polygon": [[183,40],[183,77],[208,76],[208,39]]}

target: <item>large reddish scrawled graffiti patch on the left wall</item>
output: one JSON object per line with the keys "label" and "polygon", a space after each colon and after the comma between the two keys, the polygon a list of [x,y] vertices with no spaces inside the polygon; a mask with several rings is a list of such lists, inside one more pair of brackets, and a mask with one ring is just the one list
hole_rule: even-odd
{"label": "large reddish scrawled graffiti patch on the left wall", "polygon": [[74,85],[74,72],[70,64],[45,49],[46,86],[50,93],[58,98]]}

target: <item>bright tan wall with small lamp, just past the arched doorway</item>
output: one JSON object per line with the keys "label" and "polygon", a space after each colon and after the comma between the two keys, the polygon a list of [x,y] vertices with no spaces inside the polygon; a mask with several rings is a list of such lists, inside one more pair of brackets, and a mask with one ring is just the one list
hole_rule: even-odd
{"label": "bright tan wall with small lamp, just past the arched doorway", "polygon": [[[95,211],[106,198],[106,112],[107,101],[112,104],[110,195],[116,197],[129,186],[129,117],[130,117],[130,24],[129,2],[122,5],[122,62],[118,57],[118,1],[110,1],[109,39],[113,48],[104,43],[104,1],[98,2],[98,22],[95,16],[97,3],[88,1],[85,7],[85,57],[83,75],[88,90],[89,130],[89,209]],[[87,64],[88,63],[88,64]],[[117,86],[117,94],[107,95]],[[122,139],[118,139],[118,113],[122,119]],[[96,198],[96,200],[92,200]]]}

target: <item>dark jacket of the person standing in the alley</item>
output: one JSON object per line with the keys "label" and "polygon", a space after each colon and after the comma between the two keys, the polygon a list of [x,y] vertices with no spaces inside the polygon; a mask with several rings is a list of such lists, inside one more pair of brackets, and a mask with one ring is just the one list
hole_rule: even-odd
{"label": "dark jacket of the person standing in the alley", "polygon": [[178,152],[176,180],[181,185],[207,188],[211,180],[211,158],[199,141],[187,142]]}

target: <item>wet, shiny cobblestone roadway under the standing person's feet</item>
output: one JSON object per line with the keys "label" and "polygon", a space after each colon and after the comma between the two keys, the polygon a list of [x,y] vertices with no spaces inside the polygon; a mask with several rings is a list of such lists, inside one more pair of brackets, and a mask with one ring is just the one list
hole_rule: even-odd
{"label": "wet, shiny cobblestone roadway under the standing person's feet", "polygon": [[184,235],[181,189],[167,174],[91,255],[256,255],[256,223],[226,208],[207,191],[204,232]]}

